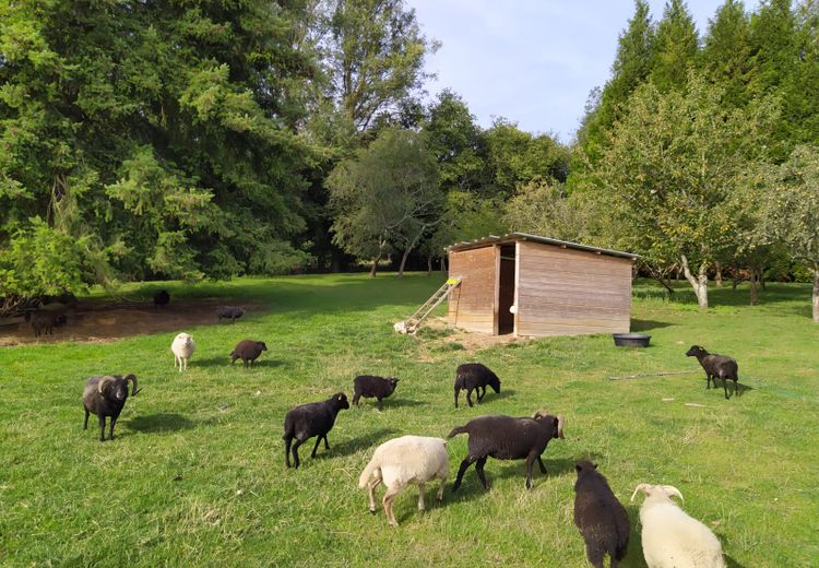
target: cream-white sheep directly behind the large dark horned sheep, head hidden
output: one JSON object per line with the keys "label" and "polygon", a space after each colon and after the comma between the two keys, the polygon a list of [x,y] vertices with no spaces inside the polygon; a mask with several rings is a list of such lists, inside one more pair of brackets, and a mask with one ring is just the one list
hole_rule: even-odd
{"label": "cream-white sheep directly behind the large dark horned sheep, head hidden", "polygon": [[443,485],[449,475],[449,457],[447,441],[442,438],[424,436],[402,436],[385,441],[376,448],[372,459],[358,478],[358,488],[369,489],[370,512],[376,513],[376,487],[384,484],[387,493],[383,498],[387,521],[397,526],[392,512],[392,501],[406,485],[418,486],[418,510],[424,510],[424,484],[440,480],[438,500],[443,499]]}

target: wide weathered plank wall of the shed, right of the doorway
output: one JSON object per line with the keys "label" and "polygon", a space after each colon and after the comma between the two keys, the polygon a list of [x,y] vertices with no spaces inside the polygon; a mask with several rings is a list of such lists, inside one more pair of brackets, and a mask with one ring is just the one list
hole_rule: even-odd
{"label": "wide weathered plank wall of the shed, right of the doorway", "polygon": [[627,333],[631,260],[519,242],[518,335]]}

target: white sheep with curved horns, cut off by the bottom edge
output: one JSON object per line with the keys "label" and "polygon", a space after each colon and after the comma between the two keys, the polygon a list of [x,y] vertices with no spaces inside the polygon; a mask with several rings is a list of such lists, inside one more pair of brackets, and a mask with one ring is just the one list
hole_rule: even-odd
{"label": "white sheep with curved horns, cut off by the bottom edge", "polygon": [[682,499],[679,489],[641,483],[631,502],[640,490],[645,493],[640,523],[649,568],[725,568],[722,545],[714,533],[672,500],[674,495]]}

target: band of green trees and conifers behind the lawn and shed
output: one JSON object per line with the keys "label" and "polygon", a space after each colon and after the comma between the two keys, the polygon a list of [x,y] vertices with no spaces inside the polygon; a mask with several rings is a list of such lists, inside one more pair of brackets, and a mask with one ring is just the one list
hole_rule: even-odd
{"label": "band of green trees and conifers behind the lawn and shed", "polygon": [[444,90],[403,0],[0,5],[0,295],[432,262],[509,230],[621,248],[708,306],[811,271],[819,3],[643,0],[577,140]]}

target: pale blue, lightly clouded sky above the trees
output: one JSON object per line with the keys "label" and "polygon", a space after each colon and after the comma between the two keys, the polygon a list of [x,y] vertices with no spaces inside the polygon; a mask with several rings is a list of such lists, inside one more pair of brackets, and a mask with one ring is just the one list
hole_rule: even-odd
{"label": "pale blue, lightly clouded sky above the trees", "polygon": [[[700,37],[724,0],[688,0]],[[423,33],[442,43],[426,70],[435,97],[451,88],[483,128],[494,117],[570,142],[589,93],[608,80],[632,0],[405,0]],[[755,11],[759,2],[746,0]],[[665,0],[649,0],[657,22]]]}

